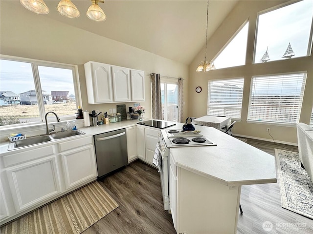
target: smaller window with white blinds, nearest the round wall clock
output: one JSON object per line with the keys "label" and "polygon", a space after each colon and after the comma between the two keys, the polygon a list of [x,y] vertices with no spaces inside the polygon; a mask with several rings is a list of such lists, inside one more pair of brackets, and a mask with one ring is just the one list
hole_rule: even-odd
{"label": "smaller window with white blinds, nearest the round wall clock", "polygon": [[209,80],[207,115],[241,118],[244,78]]}

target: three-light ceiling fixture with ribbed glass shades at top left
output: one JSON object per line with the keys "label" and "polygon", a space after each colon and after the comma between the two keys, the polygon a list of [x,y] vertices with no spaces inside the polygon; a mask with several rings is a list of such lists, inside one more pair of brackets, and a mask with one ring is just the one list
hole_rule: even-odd
{"label": "three-light ceiling fixture with ribbed glass shades at top left", "polygon": [[[48,14],[49,8],[45,4],[44,0],[20,0],[21,4],[28,10],[37,14]],[[107,17],[104,14],[98,2],[104,3],[104,0],[90,0],[92,4],[87,10],[87,17],[90,20],[103,21]],[[80,12],[73,2],[70,0],[61,0],[57,6],[58,12],[67,18],[77,18],[80,16]]]}

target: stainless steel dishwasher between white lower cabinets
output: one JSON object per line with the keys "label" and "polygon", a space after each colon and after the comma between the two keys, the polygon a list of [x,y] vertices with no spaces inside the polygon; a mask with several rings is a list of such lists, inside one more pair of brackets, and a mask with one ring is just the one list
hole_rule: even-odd
{"label": "stainless steel dishwasher between white lower cabinets", "polygon": [[125,129],[94,135],[98,177],[127,164],[127,141]]}

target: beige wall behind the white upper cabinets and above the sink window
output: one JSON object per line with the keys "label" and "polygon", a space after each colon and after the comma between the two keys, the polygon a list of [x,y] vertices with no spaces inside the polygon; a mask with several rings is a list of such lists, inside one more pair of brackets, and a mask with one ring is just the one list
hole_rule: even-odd
{"label": "beige wall behind the white upper cabinets and above the sink window", "polygon": [[[37,15],[20,4],[14,7],[10,1],[0,1],[0,8],[0,54],[78,65],[79,105],[84,110],[109,113],[116,104],[126,104],[127,110],[134,104],[88,104],[83,64],[90,60],[145,72],[146,101],[140,102],[146,108],[145,117],[151,117],[151,73],[184,78],[184,93],[188,93],[188,65]],[[184,108],[187,113],[187,100]]]}

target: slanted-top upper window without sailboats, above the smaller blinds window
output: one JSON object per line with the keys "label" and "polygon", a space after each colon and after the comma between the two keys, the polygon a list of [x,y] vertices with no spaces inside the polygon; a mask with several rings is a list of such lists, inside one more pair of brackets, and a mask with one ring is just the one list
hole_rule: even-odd
{"label": "slanted-top upper window without sailboats, above the smaller blinds window", "polygon": [[214,66],[216,69],[225,67],[235,67],[246,64],[246,43],[248,39],[249,22],[246,22],[234,38],[227,42],[226,47],[214,59]]}

